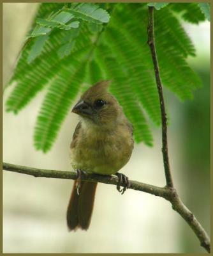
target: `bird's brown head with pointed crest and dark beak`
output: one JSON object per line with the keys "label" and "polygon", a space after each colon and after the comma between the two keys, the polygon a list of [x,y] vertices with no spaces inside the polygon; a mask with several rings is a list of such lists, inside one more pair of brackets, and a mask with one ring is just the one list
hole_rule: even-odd
{"label": "bird's brown head with pointed crest and dark beak", "polygon": [[115,97],[107,92],[110,81],[100,81],[91,86],[80,98],[72,112],[96,125],[109,125],[123,116]]}

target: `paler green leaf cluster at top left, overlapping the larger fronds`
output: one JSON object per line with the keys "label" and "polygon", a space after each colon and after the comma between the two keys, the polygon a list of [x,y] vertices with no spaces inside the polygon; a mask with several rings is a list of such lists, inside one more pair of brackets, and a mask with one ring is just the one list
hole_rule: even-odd
{"label": "paler green leaf cluster at top left, overlapping the larger fronds", "polygon": [[[67,6],[60,7],[61,8],[55,10],[55,12],[51,12],[46,19],[36,19],[37,25],[28,36],[28,38],[38,37],[29,52],[27,58],[29,63],[41,54],[48,36],[54,29],[70,30],[67,41],[64,42],[64,45],[57,51],[59,57],[64,58],[64,56],[68,56],[73,49],[75,38],[79,32],[80,21],[84,20],[91,22],[93,26],[98,26],[102,24],[102,22],[108,22],[109,20],[108,13],[94,4],[76,3],[72,4],[71,8]],[[65,33],[64,35],[67,37]]]}

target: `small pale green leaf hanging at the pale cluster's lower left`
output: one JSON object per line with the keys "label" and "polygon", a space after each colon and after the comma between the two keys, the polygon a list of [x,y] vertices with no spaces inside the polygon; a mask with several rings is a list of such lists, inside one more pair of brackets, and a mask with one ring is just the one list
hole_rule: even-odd
{"label": "small pale green leaf hanging at the pale cluster's lower left", "polygon": [[31,51],[29,52],[29,55],[27,57],[28,63],[31,63],[31,61],[34,61],[38,56],[40,56],[43,49],[43,45],[45,45],[48,36],[48,34],[44,36],[38,36],[38,38],[35,39],[34,45],[31,48]]}

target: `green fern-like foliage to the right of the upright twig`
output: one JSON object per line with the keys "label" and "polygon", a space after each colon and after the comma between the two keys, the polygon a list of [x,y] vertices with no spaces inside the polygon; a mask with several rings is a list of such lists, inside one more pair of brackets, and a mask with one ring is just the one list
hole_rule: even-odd
{"label": "green fern-like foliage to the right of the upright twig", "polygon": [[[145,33],[147,17],[141,15],[142,10],[140,8],[133,9],[133,12],[137,22],[142,24],[141,30]],[[155,12],[154,19],[156,50],[163,85],[172,90],[181,100],[191,99],[193,90],[202,84],[200,78],[185,60],[186,56],[195,54],[191,40],[168,8]],[[134,32],[132,35],[137,37],[139,42],[140,35],[136,30]],[[142,42],[138,44],[138,47],[141,44]]]}

